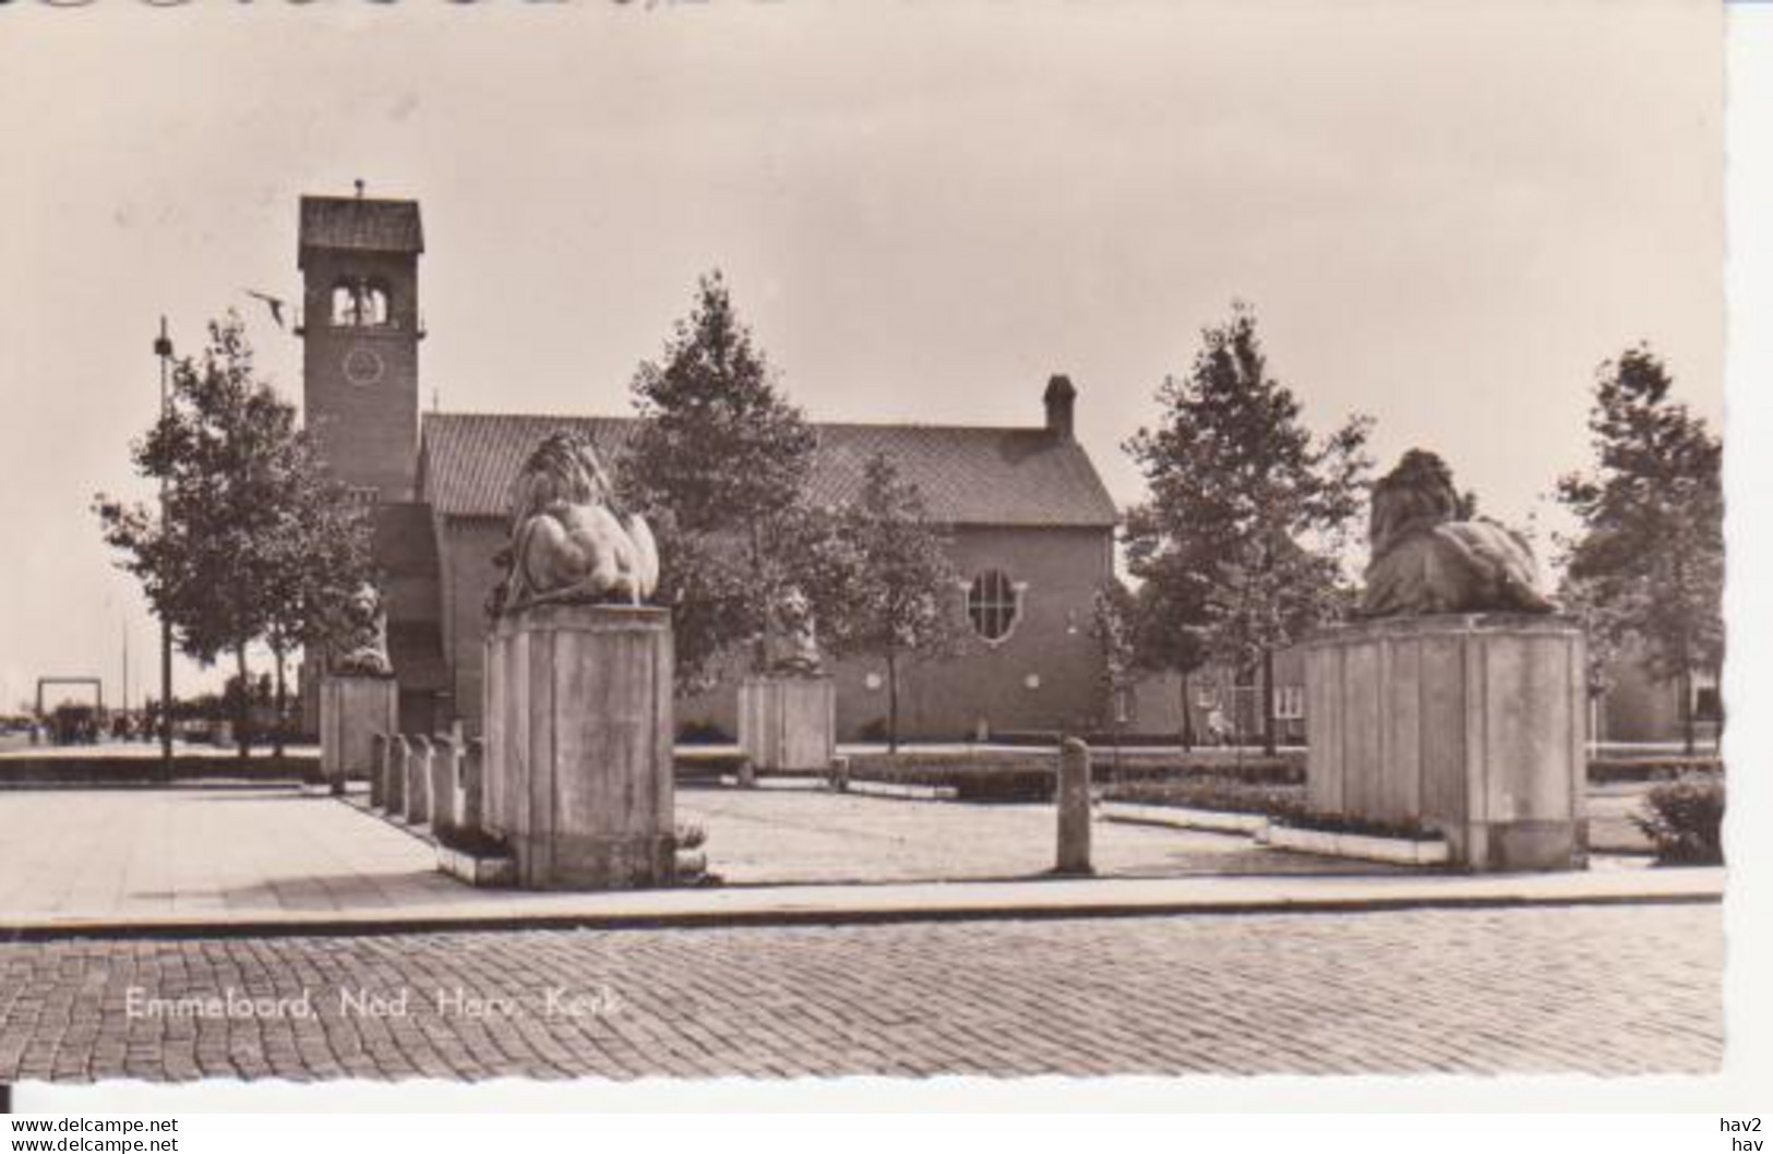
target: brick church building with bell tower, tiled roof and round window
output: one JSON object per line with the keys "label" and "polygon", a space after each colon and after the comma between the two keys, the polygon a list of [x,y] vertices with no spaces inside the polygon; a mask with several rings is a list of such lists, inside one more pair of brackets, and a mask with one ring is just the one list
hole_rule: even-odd
{"label": "brick church building with bell tower, tiled roof and round window", "polygon": [[[401,727],[480,729],[486,597],[498,580],[505,500],[528,452],[562,427],[606,461],[635,418],[420,413],[413,200],[303,197],[303,415],[333,475],[376,514]],[[1039,402],[1039,408],[1035,404]],[[1073,436],[1076,388],[1030,388],[1025,427],[814,424],[812,500],[839,505],[883,454],[924,493],[963,574],[972,626],[954,658],[901,672],[901,736],[961,739],[1105,720],[1092,596],[1113,573],[1115,507]],[[885,723],[883,661],[835,661],[839,739]],[[736,729],[736,686],[677,704],[681,730]]]}

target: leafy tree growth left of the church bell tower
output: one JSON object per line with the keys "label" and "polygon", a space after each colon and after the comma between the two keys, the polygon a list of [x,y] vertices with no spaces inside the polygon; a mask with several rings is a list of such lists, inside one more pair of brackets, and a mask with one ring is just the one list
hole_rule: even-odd
{"label": "leafy tree growth left of the church bell tower", "polygon": [[[282,716],[285,654],[324,642],[337,604],[371,578],[367,511],[326,480],[294,408],[257,378],[232,312],[174,367],[167,413],[131,454],[165,484],[165,514],[101,493],[105,541],[197,661],[232,654],[246,684],[246,647],[269,642]],[[245,757],[250,702],[236,693],[234,704]],[[280,752],[280,730],[277,741]]]}

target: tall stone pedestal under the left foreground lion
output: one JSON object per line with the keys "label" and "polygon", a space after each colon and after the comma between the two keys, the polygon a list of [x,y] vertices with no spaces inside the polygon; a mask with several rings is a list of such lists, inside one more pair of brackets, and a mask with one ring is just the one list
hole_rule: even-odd
{"label": "tall stone pedestal under the left foreground lion", "polygon": [[668,885],[672,635],[656,608],[541,604],[486,640],[484,819],[518,885]]}

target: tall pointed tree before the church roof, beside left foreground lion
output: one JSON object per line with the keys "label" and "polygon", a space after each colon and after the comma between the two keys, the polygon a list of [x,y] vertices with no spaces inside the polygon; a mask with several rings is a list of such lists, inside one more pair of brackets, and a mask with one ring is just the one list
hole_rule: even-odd
{"label": "tall pointed tree before the church roof, beside left foreground lion", "polygon": [[718,271],[702,277],[693,312],[663,360],[640,365],[631,392],[642,424],[622,495],[654,521],[679,690],[706,690],[736,645],[750,643],[754,668],[762,663],[769,606],[803,528],[814,433],[777,390]]}

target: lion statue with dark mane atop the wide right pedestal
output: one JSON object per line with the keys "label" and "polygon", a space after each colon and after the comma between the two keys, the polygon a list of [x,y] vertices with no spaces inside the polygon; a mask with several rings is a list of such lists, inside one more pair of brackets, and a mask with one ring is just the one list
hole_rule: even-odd
{"label": "lion statue with dark mane atop the wide right pedestal", "polygon": [[1362,617],[1550,613],[1527,539],[1472,518],[1452,470],[1413,448],[1372,489]]}

